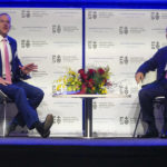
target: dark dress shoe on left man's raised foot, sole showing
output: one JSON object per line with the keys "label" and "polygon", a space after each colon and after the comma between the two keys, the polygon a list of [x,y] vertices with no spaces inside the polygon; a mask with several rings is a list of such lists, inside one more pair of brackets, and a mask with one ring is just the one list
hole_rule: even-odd
{"label": "dark dress shoe on left man's raised foot, sole showing", "polygon": [[50,128],[51,128],[52,124],[53,124],[53,116],[48,115],[46,117],[45,122],[38,121],[38,122],[36,122],[35,127],[41,137],[47,138],[50,135]]}

